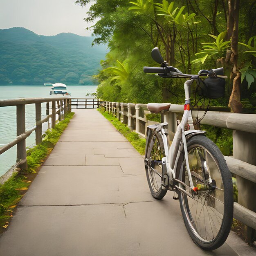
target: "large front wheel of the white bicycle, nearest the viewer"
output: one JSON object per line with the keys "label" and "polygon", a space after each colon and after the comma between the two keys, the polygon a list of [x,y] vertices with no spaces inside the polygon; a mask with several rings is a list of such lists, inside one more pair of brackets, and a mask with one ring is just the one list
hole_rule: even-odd
{"label": "large front wheel of the white bicycle, nearest the viewer", "polygon": [[[187,148],[195,195],[190,198],[180,192],[182,216],[196,244],[217,249],[227,239],[233,220],[231,173],[219,148],[207,137],[192,137]],[[178,163],[179,180],[190,186],[184,152]]]}

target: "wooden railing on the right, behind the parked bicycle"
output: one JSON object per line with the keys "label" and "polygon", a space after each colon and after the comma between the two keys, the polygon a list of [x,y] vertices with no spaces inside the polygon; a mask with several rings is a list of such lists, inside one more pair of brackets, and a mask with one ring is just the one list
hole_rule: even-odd
{"label": "wooden railing on the right, behind the parked bicycle", "polygon": [[[146,137],[147,126],[156,123],[146,119],[146,114],[150,114],[146,104],[102,101],[100,106],[143,137]],[[177,117],[181,119],[183,112],[183,105],[172,104],[169,111],[161,113],[161,121],[168,122],[171,140],[176,132]],[[201,118],[204,113],[192,111],[192,117]],[[234,203],[234,218],[256,229],[256,115],[208,111],[201,124],[233,130],[233,156],[225,156],[225,160],[237,179],[238,203]]]}

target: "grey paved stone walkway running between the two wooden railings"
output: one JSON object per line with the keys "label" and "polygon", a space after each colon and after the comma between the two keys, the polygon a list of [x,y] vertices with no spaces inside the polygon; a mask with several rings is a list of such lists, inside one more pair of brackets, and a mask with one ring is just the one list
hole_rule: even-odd
{"label": "grey paved stone walkway running between the two wooden railings", "polygon": [[204,252],[172,197],[155,200],[143,157],[97,110],[77,110],[0,237],[0,255],[252,255],[234,234]]}

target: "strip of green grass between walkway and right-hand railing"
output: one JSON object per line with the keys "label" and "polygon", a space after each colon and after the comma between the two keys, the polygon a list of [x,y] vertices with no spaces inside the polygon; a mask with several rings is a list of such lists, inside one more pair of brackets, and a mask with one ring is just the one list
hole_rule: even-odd
{"label": "strip of green grass between walkway and right-hand railing", "polygon": [[[100,110],[99,110],[100,111]],[[102,112],[101,114],[108,119],[108,121],[111,122],[111,124],[113,126],[115,126],[115,128],[117,128],[117,130],[119,130],[119,132],[121,132],[122,135],[124,135],[124,137],[126,137],[126,139],[128,139],[128,141],[130,141],[130,143],[132,144],[132,146],[134,146],[134,148],[141,154],[144,155],[145,154],[145,147],[146,147],[146,139],[140,138],[139,135],[136,132],[132,132],[128,126],[126,126],[125,124],[122,124],[116,117],[113,117],[112,115],[110,115],[107,111],[106,112]]]}

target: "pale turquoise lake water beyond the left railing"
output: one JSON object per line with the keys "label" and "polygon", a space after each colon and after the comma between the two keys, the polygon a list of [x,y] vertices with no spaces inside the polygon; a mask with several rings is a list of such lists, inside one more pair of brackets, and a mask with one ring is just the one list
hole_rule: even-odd
{"label": "pale turquoise lake water beyond the left railing", "polygon": [[[88,93],[96,92],[97,85],[69,85],[67,91],[72,98],[92,98]],[[18,98],[49,98],[51,88],[40,85],[0,85],[0,100]],[[35,104],[25,105],[26,130],[35,126]],[[46,103],[42,103],[42,116],[46,112]],[[47,123],[45,123],[45,129]],[[16,106],[0,107],[0,147],[16,138]],[[35,132],[26,139],[26,146],[35,143]],[[0,176],[16,163],[16,146],[0,155]]]}

